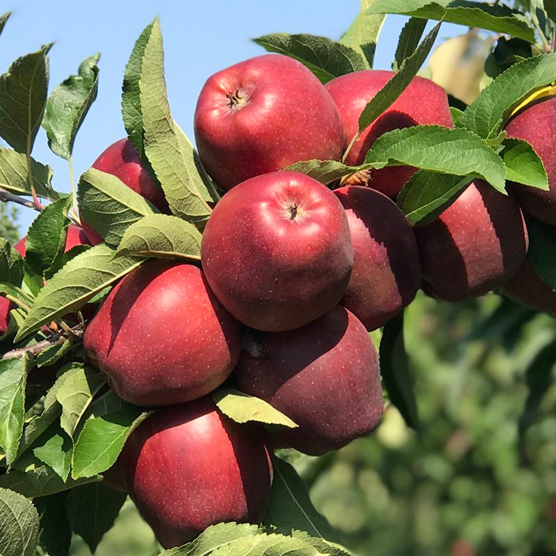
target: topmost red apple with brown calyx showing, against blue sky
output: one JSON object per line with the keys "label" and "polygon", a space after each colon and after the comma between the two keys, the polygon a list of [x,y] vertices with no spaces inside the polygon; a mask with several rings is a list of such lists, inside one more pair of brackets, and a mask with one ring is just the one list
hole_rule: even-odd
{"label": "topmost red apple with brown calyx showing, against blue sky", "polygon": [[281,54],[250,58],[208,78],[194,129],[204,167],[226,190],[298,161],[340,160],[344,142],[338,109],[322,83]]}

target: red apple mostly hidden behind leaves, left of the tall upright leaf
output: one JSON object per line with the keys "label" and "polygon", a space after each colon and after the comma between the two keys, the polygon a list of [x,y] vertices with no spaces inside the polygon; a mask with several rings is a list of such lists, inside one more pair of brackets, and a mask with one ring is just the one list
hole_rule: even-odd
{"label": "red apple mostly hidden behind leaves, left of the tall upright leaf", "polygon": [[[92,163],[92,167],[120,178],[131,190],[152,202],[159,211],[170,213],[163,190],[152,179],[147,168],[142,165],[136,148],[128,138],[120,139],[110,145]],[[88,222],[82,220],[81,225],[92,245],[102,243],[103,239]]]}

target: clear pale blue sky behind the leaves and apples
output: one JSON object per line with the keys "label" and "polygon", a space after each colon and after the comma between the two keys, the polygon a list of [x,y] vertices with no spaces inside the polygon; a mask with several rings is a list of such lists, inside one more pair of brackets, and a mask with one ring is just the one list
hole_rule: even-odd
{"label": "clear pale blue sky behind the leaves and apples", "polygon": [[[74,146],[76,179],[95,158],[125,135],[120,92],[133,44],[158,15],[164,38],[165,72],[174,119],[193,140],[193,113],[204,82],[214,72],[263,54],[250,38],[267,33],[313,33],[337,39],[359,11],[357,0],[300,1],[158,1],[95,0],[79,2],[26,0],[3,3],[12,17],[0,37],[0,72],[15,58],[54,42],[50,51],[50,85],[76,73],[84,58],[101,53],[99,94]],[[406,18],[389,16],[382,32],[375,67],[390,68],[395,45]],[[463,29],[462,29],[463,30]],[[443,26],[442,37],[457,27]],[[54,169],[54,187],[69,191],[67,163],[47,146],[39,132],[33,157]],[[34,218],[19,211],[22,234]]]}

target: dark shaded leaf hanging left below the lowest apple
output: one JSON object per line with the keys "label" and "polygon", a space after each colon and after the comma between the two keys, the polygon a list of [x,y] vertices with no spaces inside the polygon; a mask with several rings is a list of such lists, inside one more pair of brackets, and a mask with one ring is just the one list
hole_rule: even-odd
{"label": "dark shaded leaf hanging left below the lowest apple", "polygon": [[94,483],[78,486],[67,495],[67,518],[74,533],[94,553],[104,533],[112,528],[127,494]]}

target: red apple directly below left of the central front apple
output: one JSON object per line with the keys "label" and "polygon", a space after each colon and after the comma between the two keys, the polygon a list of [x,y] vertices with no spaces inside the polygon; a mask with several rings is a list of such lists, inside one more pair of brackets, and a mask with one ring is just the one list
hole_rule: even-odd
{"label": "red apple directly below left of the central front apple", "polygon": [[240,329],[201,270],[152,259],[113,288],[83,344],[120,398],[176,404],[224,382],[239,357]]}

